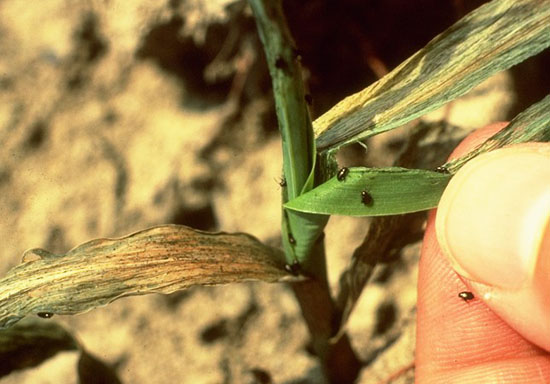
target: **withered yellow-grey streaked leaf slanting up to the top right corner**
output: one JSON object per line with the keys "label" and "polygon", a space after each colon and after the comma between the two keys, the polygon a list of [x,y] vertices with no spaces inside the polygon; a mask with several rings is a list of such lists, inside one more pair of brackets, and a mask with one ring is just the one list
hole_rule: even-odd
{"label": "withered yellow-grey streaked leaf slanting up to the top right corner", "polygon": [[313,122],[318,150],[401,126],[550,46],[550,1],[493,0]]}

